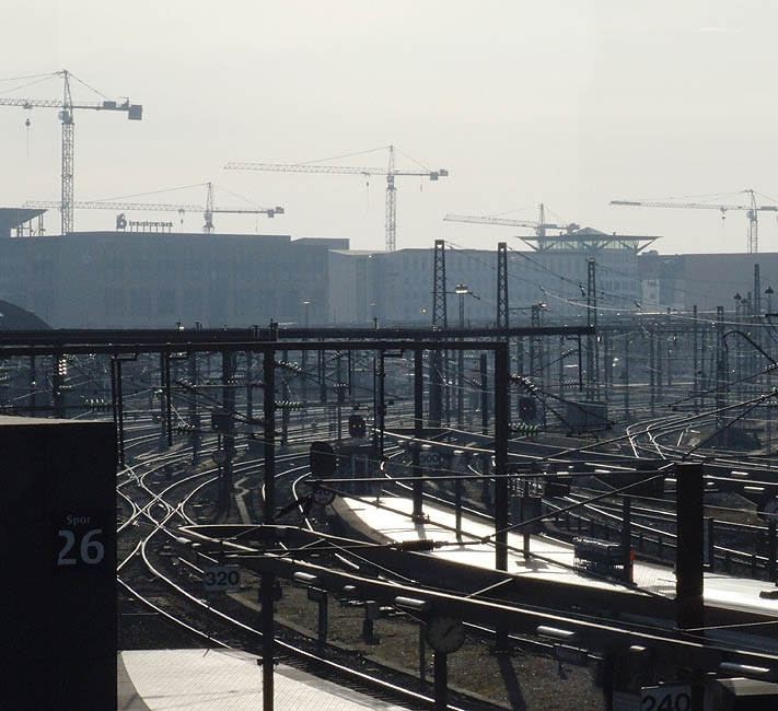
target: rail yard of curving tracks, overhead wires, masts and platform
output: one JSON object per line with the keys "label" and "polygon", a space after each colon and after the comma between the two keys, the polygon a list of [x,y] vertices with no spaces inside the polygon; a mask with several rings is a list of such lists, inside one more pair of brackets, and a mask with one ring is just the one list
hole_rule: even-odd
{"label": "rail yard of curving tracks, overhead wires, masts and platform", "polygon": [[254,654],[266,704],[280,663],[403,708],[740,708],[778,680],[773,330],[7,331],[2,406],[116,433],[118,649]]}

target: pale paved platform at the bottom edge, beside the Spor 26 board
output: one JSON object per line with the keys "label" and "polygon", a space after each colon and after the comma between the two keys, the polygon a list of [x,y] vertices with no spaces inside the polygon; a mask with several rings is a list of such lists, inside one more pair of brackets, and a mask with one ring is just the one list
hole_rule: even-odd
{"label": "pale paved platform at the bottom edge, beside the Spor 26 board", "polygon": [[[118,711],[258,711],[263,671],[257,657],[232,650],[143,650],[119,654]],[[404,711],[279,664],[276,711]]]}

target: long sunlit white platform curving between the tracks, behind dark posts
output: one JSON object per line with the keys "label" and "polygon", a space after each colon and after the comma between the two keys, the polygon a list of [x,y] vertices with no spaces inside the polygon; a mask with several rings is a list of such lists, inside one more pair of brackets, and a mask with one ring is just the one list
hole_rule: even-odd
{"label": "long sunlit white platform curving between the tracks, behind dark posts", "polygon": [[[351,525],[371,529],[387,540],[431,538],[451,541],[452,546],[426,555],[460,564],[495,569],[495,545],[477,543],[495,532],[493,526],[485,520],[463,515],[463,535],[457,538],[454,531],[456,520],[453,509],[425,502],[425,521],[413,522],[410,518],[413,500],[409,498],[382,497],[376,501],[342,497],[337,500],[336,506],[338,514],[350,520]],[[524,546],[522,533],[510,532],[508,546],[508,573],[512,575],[576,583],[603,590],[629,590],[623,584],[609,583],[573,570],[572,545],[550,536],[531,535],[529,558],[522,552]],[[675,596],[675,573],[672,568],[635,561],[632,580],[636,588],[667,597]],[[774,586],[766,581],[731,578],[718,573],[705,574],[705,602],[708,605],[775,616],[778,613],[778,601],[759,597],[760,591],[770,588]]]}

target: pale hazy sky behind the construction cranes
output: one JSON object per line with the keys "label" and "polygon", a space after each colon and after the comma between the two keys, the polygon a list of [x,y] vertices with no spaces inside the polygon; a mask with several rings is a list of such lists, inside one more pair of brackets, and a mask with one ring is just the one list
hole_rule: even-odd
{"label": "pale hazy sky behind the construction cranes", "polygon": [[[520,231],[443,215],[518,210],[506,217],[534,219],[544,202],[556,221],[663,235],[664,253],[744,252],[743,212],[722,223],[716,210],[608,201],[750,187],[778,198],[778,3],[768,0],[3,0],[0,18],[0,79],[65,68],[144,106],[141,123],[77,113],[77,200],[212,180],[287,210],[274,221],[217,215],[218,230],[347,236],[353,248],[382,248],[381,176],[367,187],[358,175],[222,168],[390,143],[451,173],[438,183],[397,179],[399,248],[440,237],[493,248]],[[0,97],[61,96],[59,80],[22,88],[31,81],[0,81]],[[100,98],[78,83],[73,94]],[[56,109],[0,106],[0,205],[59,199],[59,147]],[[379,151],[334,164],[385,162]],[[402,156],[398,167],[416,168]],[[205,188],[143,199],[202,202]],[[227,191],[217,201],[241,205]],[[769,215],[762,252],[778,250]],[[186,215],[184,226],[201,222]],[[76,226],[111,230],[114,213],[79,211]],[[57,214],[47,229],[58,231]]]}

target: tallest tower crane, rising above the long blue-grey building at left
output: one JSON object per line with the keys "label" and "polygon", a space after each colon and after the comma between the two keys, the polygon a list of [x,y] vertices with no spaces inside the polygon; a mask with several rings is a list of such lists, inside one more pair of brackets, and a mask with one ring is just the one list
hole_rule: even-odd
{"label": "tallest tower crane, rising above the long blue-grey building at left", "polygon": [[[61,77],[63,91],[62,101],[46,98],[0,98],[0,106],[21,106],[22,108],[59,108],[59,120],[62,123],[62,191],[59,208],[62,218],[62,234],[73,231],[73,164],[76,155],[76,125],[73,110],[89,108],[92,110],[126,112],[129,120],[139,121],[143,115],[141,104],[130,104],[129,98],[120,102],[79,102],[73,103],[70,93],[70,78],[67,69],[54,72],[51,77]],[[77,77],[73,77],[78,79]],[[80,81],[80,80],[79,80]]]}

